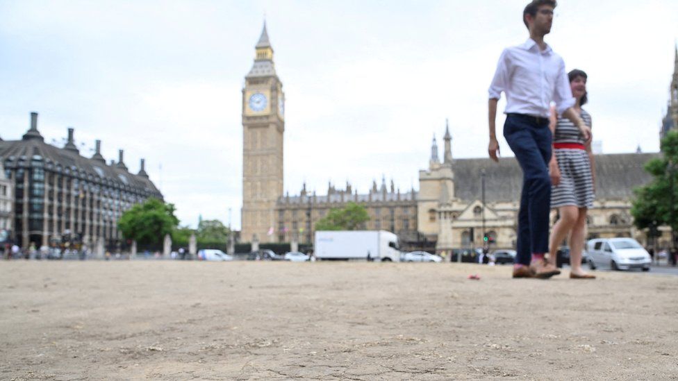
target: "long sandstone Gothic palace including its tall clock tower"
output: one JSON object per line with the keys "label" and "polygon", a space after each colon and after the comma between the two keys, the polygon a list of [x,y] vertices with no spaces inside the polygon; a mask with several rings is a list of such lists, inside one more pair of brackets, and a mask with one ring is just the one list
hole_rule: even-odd
{"label": "long sandstone Gothic palace including its tall clock tower", "polygon": [[[670,94],[661,136],[678,129],[678,50]],[[522,185],[518,162],[514,158],[501,158],[498,164],[490,159],[453,158],[447,126],[442,158],[433,138],[429,167],[419,171],[418,192],[400,192],[392,181],[387,185],[382,178],[381,185],[374,182],[367,194],[359,194],[349,183],[344,189],[329,184],[325,195],[308,192],[305,184],[297,195],[283,194],[284,102],[283,84],[276,74],[264,25],[254,65],[242,89],[243,241],[313,243],[315,223],[332,208],[354,202],[370,215],[365,229],[395,232],[405,248],[444,253],[480,246],[485,234],[497,248],[515,245]],[[645,243],[645,234],[632,223],[631,198],[634,188],[651,180],[643,168],[645,163],[659,155],[638,150],[595,156],[596,201],[587,221],[589,237],[636,237]],[[668,240],[668,232],[661,239]],[[668,245],[665,241],[661,244]]]}

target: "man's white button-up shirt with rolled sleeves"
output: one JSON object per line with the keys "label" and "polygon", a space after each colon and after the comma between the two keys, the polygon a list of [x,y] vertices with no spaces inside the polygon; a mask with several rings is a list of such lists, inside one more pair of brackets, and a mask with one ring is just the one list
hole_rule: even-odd
{"label": "man's white button-up shirt with rolled sleeves", "polygon": [[575,103],[563,58],[551,46],[542,51],[531,38],[504,49],[489,92],[490,99],[499,99],[502,92],[506,93],[507,114],[547,118],[552,101],[558,115]]}

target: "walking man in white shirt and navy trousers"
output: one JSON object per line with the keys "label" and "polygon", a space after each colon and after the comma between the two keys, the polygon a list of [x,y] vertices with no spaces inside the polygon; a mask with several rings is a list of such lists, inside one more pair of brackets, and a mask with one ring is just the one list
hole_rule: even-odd
{"label": "walking man in white shirt and navy trousers", "polygon": [[549,129],[549,105],[553,101],[563,115],[581,130],[587,142],[590,128],[574,112],[565,62],[544,42],[551,31],[555,0],[534,0],[522,14],[529,39],[504,49],[490,85],[489,124],[490,158],[498,162],[499,142],[495,133],[497,101],[506,94],[504,137],[523,173],[518,244],[513,278],[550,278],[560,271],[544,255],[549,251],[549,210],[552,134]]}

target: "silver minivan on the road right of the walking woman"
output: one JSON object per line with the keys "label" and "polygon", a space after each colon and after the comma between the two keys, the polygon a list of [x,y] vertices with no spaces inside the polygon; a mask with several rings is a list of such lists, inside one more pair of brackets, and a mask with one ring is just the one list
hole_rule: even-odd
{"label": "silver minivan on the road right of the walking woman", "polygon": [[652,258],[633,238],[598,238],[586,243],[587,262],[591,269],[643,269],[650,271]]}

